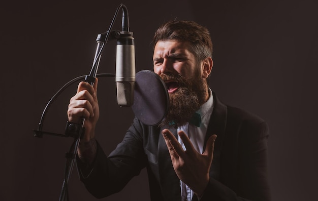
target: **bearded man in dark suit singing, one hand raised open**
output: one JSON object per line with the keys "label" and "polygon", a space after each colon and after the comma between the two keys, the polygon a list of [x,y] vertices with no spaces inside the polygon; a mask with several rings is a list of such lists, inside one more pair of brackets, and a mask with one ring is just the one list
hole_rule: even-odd
{"label": "bearded man in dark suit singing, one hand raised open", "polygon": [[77,167],[87,190],[98,198],[108,196],[147,168],[151,200],[270,200],[267,123],[221,103],[209,88],[208,29],[193,21],[169,21],[157,29],[153,45],[153,70],[170,100],[159,125],[135,117],[106,156],[94,138],[97,82],[93,87],[81,82],[71,98],[69,121],[85,118]]}

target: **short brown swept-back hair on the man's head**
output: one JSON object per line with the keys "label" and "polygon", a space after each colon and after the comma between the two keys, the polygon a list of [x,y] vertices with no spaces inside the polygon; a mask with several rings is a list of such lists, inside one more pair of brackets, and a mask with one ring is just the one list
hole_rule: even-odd
{"label": "short brown swept-back hair on the man's head", "polygon": [[158,41],[177,40],[189,42],[189,51],[196,57],[197,62],[207,57],[212,58],[213,45],[209,30],[194,21],[171,20],[162,24],[152,39],[153,48]]}

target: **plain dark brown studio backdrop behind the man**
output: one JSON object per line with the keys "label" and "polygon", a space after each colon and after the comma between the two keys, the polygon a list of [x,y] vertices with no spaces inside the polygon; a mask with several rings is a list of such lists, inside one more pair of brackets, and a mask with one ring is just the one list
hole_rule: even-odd
{"label": "plain dark brown studio backdrop behind the man", "polygon": [[[88,74],[96,36],[108,30],[124,3],[136,43],[137,71],[152,69],[150,41],[169,19],[207,26],[214,43],[210,86],[227,104],[263,117],[270,126],[272,197],[316,197],[318,137],[318,5],[304,1],[12,1],[0,8],[0,200],[58,200],[73,139],[33,137],[46,103],[72,78]],[[110,2],[110,3],[109,3]],[[133,3],[134,2],[134,3]],[[121,11],[114,29],[121,27]],[[99,73],[115,72],[115,43],[103,52]],[[114,78],[100,78],[97,138],[109,153],[133,117],[116,102]],[[56,100],[44,130],[63,133],[72,85]],[[70,200],[97,200],[74,169]],[[145,171],[120,193],[102,200],[149,200]]]}

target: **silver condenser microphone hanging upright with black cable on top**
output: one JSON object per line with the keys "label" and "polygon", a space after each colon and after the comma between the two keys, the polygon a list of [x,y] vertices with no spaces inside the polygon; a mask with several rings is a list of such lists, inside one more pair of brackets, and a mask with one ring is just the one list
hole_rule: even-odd
{"label": "silver condenser microphone hanging upright with black cable on top", "polygon": [[135,43],[133,32],[129,31],[129,17],[126,7],[122,6],[122,31],[119,32],[116,46],[116,88],[117,103],[130,107],[134,102],[136,81]]}

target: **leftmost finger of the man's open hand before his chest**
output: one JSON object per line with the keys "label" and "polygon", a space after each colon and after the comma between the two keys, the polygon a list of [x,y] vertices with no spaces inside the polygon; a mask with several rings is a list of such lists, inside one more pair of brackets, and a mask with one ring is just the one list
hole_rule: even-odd
{"label": "leftmost finger of the man's open hand before his chest", "polygon": [[162,131],[162,134],[164,136],[170,155],[178,158],[179,155],[184,152],[180,143],[168,129],[164,129]]}

